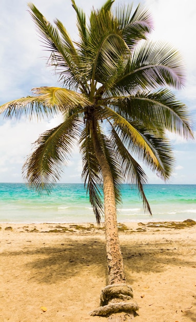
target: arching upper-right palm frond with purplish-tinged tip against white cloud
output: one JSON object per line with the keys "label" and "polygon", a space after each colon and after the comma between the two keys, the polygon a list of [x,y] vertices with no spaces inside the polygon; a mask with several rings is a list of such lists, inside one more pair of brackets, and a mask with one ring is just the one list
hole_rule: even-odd
{"label": "arching upper-right palm frond with purplish-tinged tip against white cloud", "polygon": [[118,75],[114,87],[127,93],[151,91],[160,86],[182,88],[184,62],[180,53],[164,42],[145,41],[134,50],[130,65]]}

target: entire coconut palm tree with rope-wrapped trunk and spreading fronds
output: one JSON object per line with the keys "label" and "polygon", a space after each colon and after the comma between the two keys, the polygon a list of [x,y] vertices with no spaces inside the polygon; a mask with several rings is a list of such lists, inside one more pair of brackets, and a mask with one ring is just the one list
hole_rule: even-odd
{"label": "entire coconut palm tree with rope-wrapped trunk and spreading fronds", "polygon": [[192,138],[193,133],[187,106],[168,89],[184,84],[181,56],[168,44],[147,40],[152,30],[148,10],[139,5],[133,12],[132,4],[112,10],[113,2],[107,0],[100,10],[93,9],[87,24],[85,13],[71,0],[77,42],[71,41],[59,20],[52,25],[29,4],[50,53],[48,64],[62,87],[33,88],[31,97],[2,105],[1,113],[17,119],[63,116],[61,124],[37,139],[23,175],[38,192],[50,191],[75,142],[79,144],[82,178],[97,222],[105,216],[108,286],[102,291],[101,307],[92,315],[124,321],[125,313],[113,312],[126,312],[131,320],[138,305],[126,284],[117,230],[121,184],[136,186],[144,209],[151,213],[144,193],[147,176],[139,162],[168,180],[174,157],[166,131],[185,138]]}

